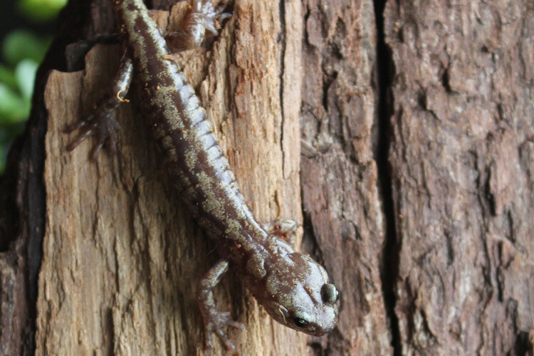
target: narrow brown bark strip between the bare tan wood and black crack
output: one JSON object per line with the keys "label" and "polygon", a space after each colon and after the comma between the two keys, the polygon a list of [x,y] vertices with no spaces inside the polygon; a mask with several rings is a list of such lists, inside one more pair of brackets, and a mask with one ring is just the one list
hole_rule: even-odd
{"label": "narrow brown bark strip between the bare tan wood and black crack", "polygon": [[378,95],[372,1],[305,1],[300,166],[305,234],[342,290],[333,355],[390,354],[373,157]]}

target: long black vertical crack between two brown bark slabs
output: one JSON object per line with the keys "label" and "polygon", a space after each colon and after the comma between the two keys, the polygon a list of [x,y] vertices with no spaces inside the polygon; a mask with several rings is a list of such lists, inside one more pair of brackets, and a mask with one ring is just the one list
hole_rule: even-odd
{"label": "long black vertical crack between two brown bark slabs", "polygon": [[397,296],[395,285],[399,276],[399,241],[395,229],[394,201],[392,193],[392,176],[389,170],[389,144],[390,144],[390,117],[393,112],[391,85],[393,78],[392,53],[385,42],[384,35],[384,7],[386,0],[373,0],[375,5],[375,22],[377,26],[377,85],[379,99],[377,102],[378,114],[378,149],[377,169],[382,194],[382,206],[386,221],[386,241],[382,251],[382,293],[384,295],[384,308],[389,320],[389,329],[392,334],[391,344],[394,355],[401,355],[401,340],[399,333],[399,320],[395,313]]}

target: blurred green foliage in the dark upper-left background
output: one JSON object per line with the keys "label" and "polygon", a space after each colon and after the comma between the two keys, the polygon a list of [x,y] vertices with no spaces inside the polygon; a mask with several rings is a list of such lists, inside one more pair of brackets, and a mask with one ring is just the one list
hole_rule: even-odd
{"label": "blurred green foliage in the dark upper-left background", "polygon": [[[56,17],[67,0],[19,0],[18,9],[29,21],[43,23]],[[0,173],[4,172],[9,145],[28,119],[33,82],[51,36],[14,29],[0,44]]]}

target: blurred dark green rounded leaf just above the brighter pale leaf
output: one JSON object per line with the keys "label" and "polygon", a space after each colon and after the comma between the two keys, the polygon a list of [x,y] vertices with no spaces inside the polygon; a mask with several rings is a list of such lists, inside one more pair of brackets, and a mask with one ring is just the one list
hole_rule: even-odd
{"label": "blurred dark green rounded leaf just above the brighter pale leaf", "polygon": [[41,63],[49,44],[49,40],[38,38],[31,32],[15,30],[6,36],[2,53],[11,66],[25,58]]}

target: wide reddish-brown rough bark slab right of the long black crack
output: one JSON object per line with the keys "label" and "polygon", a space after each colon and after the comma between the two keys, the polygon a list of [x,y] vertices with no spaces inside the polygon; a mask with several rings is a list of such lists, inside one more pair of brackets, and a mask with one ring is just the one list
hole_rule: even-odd
{"label": "wide reddish-brown rough bark slab right of the long black crack", "polygon": [[534,327],[534,3],[388,1],[384,18],[396,71],[402,353],[524,355]]}

